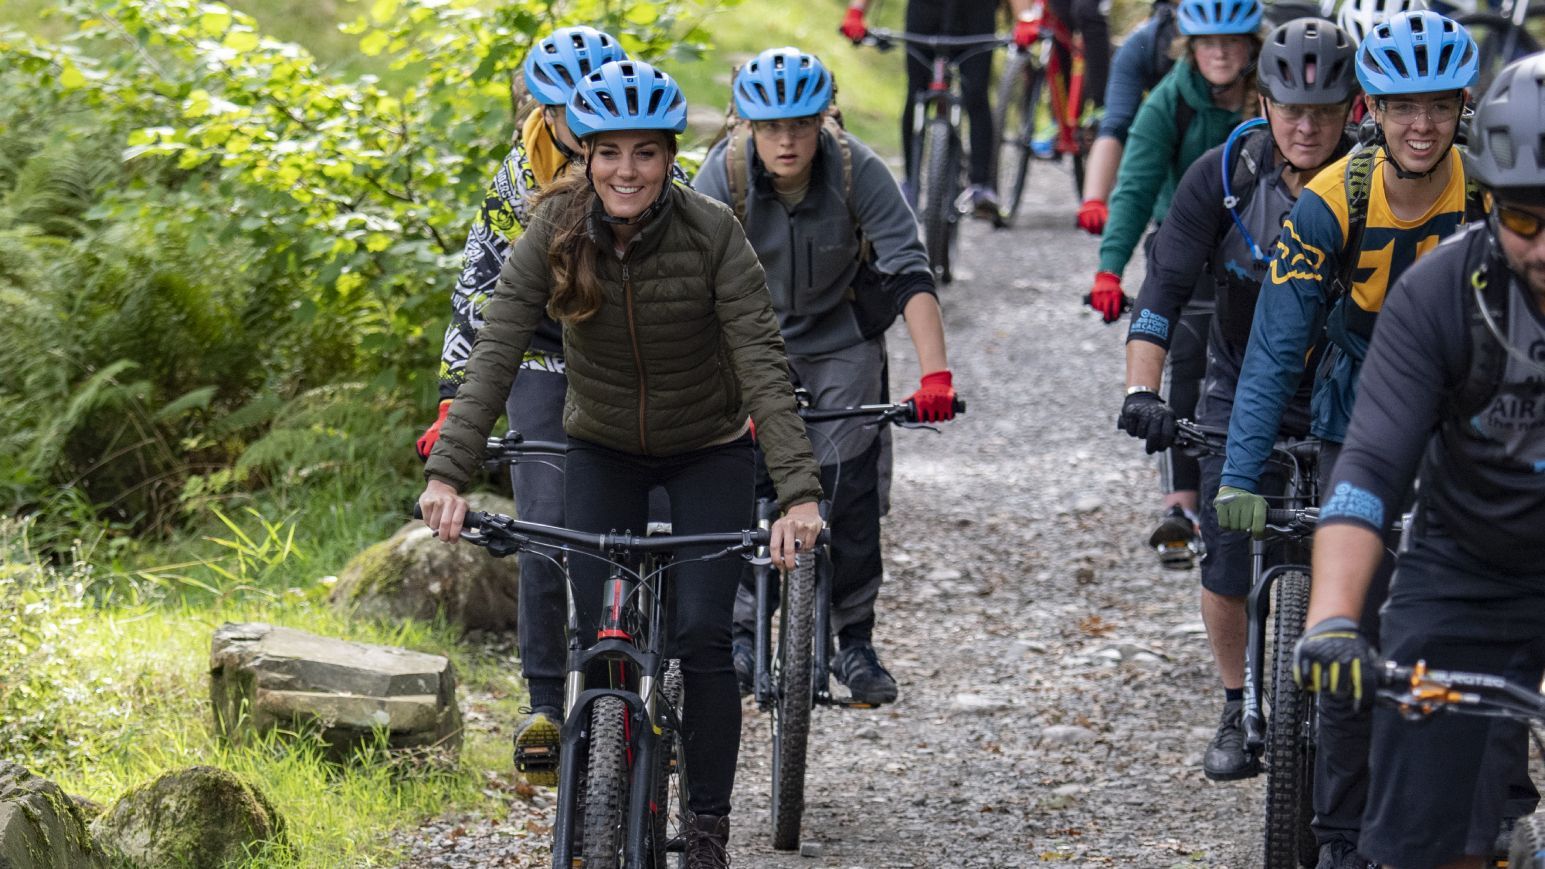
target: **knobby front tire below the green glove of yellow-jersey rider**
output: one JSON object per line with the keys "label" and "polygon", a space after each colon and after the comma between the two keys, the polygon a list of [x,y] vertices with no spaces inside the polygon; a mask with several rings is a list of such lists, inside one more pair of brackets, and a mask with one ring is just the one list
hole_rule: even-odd
{"label": "knobby front tire below the green glove of yellow-jersey rider", "polygon": [[1313,699],[1293,682],[1293,646],[1309,612],[1309,574],[1285,572],[1276,580],[1272,608],[1272,714],[1265,731],[1265,869],[1315,866],[1315,751],[1309,724]]}

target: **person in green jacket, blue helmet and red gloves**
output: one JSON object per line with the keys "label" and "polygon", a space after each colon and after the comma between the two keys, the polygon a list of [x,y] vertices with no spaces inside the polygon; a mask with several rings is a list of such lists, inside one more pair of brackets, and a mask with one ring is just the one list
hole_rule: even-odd
{"label": "person in green jacket, blue helmet and red gloves", "polygon": [[[1132,257],[1149,221],[1162,224],[1170,198],[1188,165],[1228,138],[1230,130],[1253,110],[1250,90],[1255,59],[1261,48],[1258,0],[1182,0],[1176,9],[1185,37],[1180,59],[1148,94],[1122,153],[1109,221],[1100,238],[1100,269],[1086,297],[1106,323],[1122,317],[1128,303],[1122,271]],[[1151,252],[1153,235],[1148,237]],[[1211,317],[1211,285],[1202,281],[1193,311],[1176,322],[1168,354],[1166,400],[1182,416],[1191,416],[1207,370],[1207,329]],[[1149,546],[1190,544],[1196,540],[1196,490],[1200,470],[1194,458],[1170,450],[1160,459],[1163,515],[1149,535]],[[1191,558],[1165,561],[1187,569]]]}

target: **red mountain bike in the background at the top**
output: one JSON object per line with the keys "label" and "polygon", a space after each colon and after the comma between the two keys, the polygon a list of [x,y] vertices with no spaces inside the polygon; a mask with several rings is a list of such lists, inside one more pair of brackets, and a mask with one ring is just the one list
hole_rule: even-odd
{"label": "red mountain bike in the background at the top", "polygon": [[1009,53],[1009,62],[998,79],[998,102],[993,108],[993,130],[998,133],[998,201],[1001,221],[1012,224],[1020,213],[1020,199],[1031,176],[1035,152],[1037,116],[1044,105],[1057,124],[1049,159],[1072,161],[1074,196],[1083,196],[1083,161],[1089,156],[1092,130],[1083,127],[1083,37],[1074,36],[1046,5],[1037,0],[1031,8],[1035,40],[1029,48]]}

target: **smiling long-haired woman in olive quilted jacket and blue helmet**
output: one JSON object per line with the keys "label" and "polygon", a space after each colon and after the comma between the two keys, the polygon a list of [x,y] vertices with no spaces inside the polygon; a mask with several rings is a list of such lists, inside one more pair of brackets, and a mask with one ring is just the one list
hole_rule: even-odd
{"label": "smiling long-haired woman in olive quilted jacket and blue helmet", "polygon": [[[686,99],[647,63],[610,62],[581,79],[565,107],[584,173],[556,179],[484,308],[467,379],[425,465],[425,523],[457,540],[490,427],[544,312],[562,325],[569,396],[565,526],[586,532],[647,524],[649,490],[671,499],[675,533],[752,524],[749,419],[783,516],[771,554],[793,566],[820,532],[819,469],[788,380],[766,280],[740,224],[717,203],[672,184]],[[689,697],[692,768],[688,864],[728,866],[729,798],[740,699],[729,625],[740,567],[684,558],[675,643]],[[607,564],[570,564],[581,642],[595,642]]]}

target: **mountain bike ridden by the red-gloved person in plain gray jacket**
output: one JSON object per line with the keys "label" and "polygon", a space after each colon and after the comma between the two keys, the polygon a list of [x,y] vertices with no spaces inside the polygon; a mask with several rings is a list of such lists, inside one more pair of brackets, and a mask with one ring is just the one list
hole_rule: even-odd
{"label": "mountain bike ridden by the red-gloved person in plain gray jacket", "polygon": [[[799,414],[805,422],[870,417],[873,425],[901,428],[936,428],[918,422],[912,402],[874,404],[844,408],[810,407],[810,393],[796,390]],[[955,400],[955,413],[964,413],[966,402]],[[830,453],[836,444],[828,444]],[[828,455],[830,455],[828,453]],[[823,465],[831,464],[822,461]],[[840,461],[837,482],[842,481]],[[831,493],[834,495],[834,492]],[[822,516],[827,503],[822,504]],[[771,527],[777,504],[757,499],[757,527]],[[814,571],[794,574],[782,583],[762,550],[752,561],[756,580],[756,640],[752,696],[757,708],[772,719],[772,847],[799,847],[799,829],[805,813],[805,761],[810,747],[810,714],[813,707],[873,708],[831,691],[831,555],[827,547],[814,552]],[[774,603],[777,598],[777,603]],[[772,614],[779,612],[774,642]],[[819,640],[819,642],[817,642]]]}

